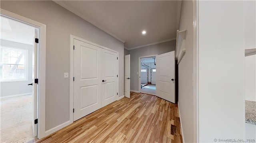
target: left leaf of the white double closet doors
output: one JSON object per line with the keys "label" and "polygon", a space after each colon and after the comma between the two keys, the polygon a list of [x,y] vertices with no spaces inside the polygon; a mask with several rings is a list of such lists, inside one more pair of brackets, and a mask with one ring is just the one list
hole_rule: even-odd
{"label": "left leaf of the white double closet doors", "polygon": [[101,108],[102,49],[74,39],[74,121]]}

